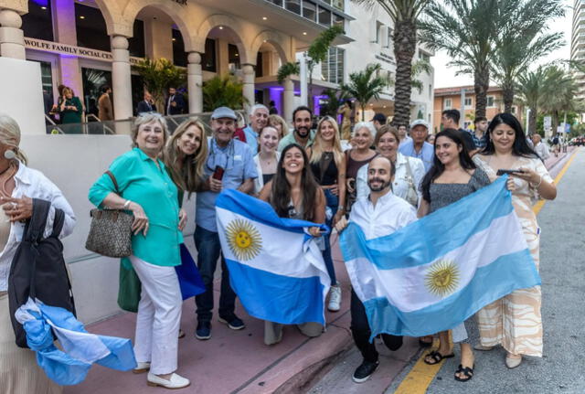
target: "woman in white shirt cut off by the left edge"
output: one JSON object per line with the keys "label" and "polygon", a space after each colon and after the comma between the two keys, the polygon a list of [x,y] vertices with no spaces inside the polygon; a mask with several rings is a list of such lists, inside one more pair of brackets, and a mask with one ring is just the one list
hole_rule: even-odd
{"label": "woman in white shirt cut off by the left edge", "polygon": [[22,240],[27,219],[32,216],[33,198],[51,203],[45,236],[53,230],[55,209],[62,209],[65,222],[59,237],[66,237],[75,226],[69,202],[55,184],[40,171],[27,167],[27,157],[18,148],[20,128],[14,119],[0,114],[0,393],[60,393],[38,367],[35,353],[17,347],[8,312],[8,274],[16,249]]}

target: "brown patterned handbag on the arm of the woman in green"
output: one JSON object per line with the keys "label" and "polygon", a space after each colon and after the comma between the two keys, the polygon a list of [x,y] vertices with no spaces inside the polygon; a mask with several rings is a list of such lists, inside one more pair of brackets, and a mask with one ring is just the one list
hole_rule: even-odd
{"label": "brown patterned handbag on the arm of the woman in green", "polygon": [[[112,178],[115,193],[121,196],[112,172],[105,174]],[[132,223],[133,215],[123,209],[91,209],[91,225],[88,240],[85,242],[87,250],[94,251],[107,257],[128,257],[132,254]]]}

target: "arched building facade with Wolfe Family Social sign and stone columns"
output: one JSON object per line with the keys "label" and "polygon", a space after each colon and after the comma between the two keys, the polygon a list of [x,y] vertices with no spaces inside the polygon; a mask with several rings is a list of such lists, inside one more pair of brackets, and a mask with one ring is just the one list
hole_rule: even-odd
{"label": "arched building facade with Wolfe Family Social sign and stone columns", "polygon": [[39,62],[43,90],[57,101],[67,85],[88,112],[111,86],[116,119],[142,100],[131,66],[144,58],[186,68],[190,113],[203,110],[203,81],[231,73],[249,104],[275,101],[290,117],[298,79],[281,86],[276,71],[325,28],[347,30],[345,10],[342,0],[1,0],[0,54]]}

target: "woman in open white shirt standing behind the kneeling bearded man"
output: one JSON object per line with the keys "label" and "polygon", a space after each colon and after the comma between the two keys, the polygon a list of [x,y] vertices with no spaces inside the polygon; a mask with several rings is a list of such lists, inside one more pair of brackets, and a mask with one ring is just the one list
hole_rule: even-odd
{"label": "woman in open white shirt standing behind the kneeling bearded man", "polygon": [[[420,181],[425,174],[424,165],[416,157],[407,157],[399,153],[399,133],[396,127],[388,124],[380,127],[374,144],[378,154],[388,157],[396,167],[396,176],[392,183],[392,193],[404,198],[413,207],[420,203]],[[357,171],[357,198],[367,197],[367,165]]]}

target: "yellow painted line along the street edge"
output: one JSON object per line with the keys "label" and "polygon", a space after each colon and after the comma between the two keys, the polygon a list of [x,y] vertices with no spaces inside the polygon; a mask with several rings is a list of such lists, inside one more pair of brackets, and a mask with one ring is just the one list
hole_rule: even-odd
{"label": "yellow painted line along the street edge", "polygon": [[[577,154],[577,152],[579,151],[580,151],[579,148],[573,151],[569,158],[569,161],[563,166],[563,169],[560,170],[558,176],[555,177],[554,180],[555,185],[558,185],[560,179],[565,175],[565,173],[569,169],[569,165],[573,162],[575,154]],[[540,200],[537,202],[534,208],[532,208],[535,215],[538,215],[538,212],[540,212],[540,209],[544,207],[546,202],[547,202],[546,200]],[[432,345],[433,348],[438,347],[439,340],[435,338]],[[400,382],[400,385],[396,389],[396,391],[394,391],[394,394],[424,394],[427,392],[427,389],[429,389],[429,386],[431,385],[432,379],[434,379],[435,376],[439,373],[439,370],[441,370],[441,366],[444,363],[443,360],[439,364],[430,366],[429,364],[424,362],[424,357],[426,357],[427,354],[429,354],[429,352],[425,351],[420,355],[417,362],[414,364],[414,366],[412,366],[412,369],[410,369],[408,375],[402,379],[402,382]]]}

